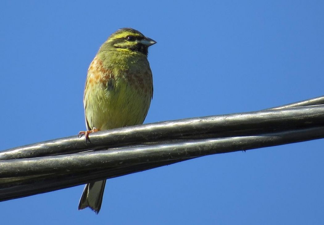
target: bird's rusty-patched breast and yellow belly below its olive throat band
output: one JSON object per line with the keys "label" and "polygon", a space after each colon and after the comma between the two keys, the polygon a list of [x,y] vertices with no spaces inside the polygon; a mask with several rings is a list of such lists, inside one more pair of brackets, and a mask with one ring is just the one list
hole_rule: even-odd
{"label": "bird's rusty-patched breast and yellow belly below its olive throat band", "polygon": [[148,68],[105,68],[95,58],[88,69],[84,95],[89,129],[100,130],[143,123],[152,98],[152,73]]}

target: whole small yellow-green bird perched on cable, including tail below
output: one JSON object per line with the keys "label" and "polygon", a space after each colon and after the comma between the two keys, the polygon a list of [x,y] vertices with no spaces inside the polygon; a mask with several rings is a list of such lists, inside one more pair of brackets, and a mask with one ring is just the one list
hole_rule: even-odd
{"label": "whole small yellow-green bird perched on cable, including tail below", "polygon": [[[153,96],[148,47],[156,41],[132,28],[111,34],[91,62],[84,91],[87,131],[79,136],[142,124]],[[78,209],[98,214],[106,180],[86,184]]]}

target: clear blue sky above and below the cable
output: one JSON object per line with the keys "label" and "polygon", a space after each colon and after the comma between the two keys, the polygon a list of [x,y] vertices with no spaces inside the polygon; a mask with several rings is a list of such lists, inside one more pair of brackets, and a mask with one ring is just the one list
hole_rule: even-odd
{"label": "clear blue sky above and below the cable", "polygon": [[[145,123],[246,112],[324,95],[322,1],[1,1],[0,149],[85,129],[87,68],[115,30],[149,49]],[[0,203],[2,224],[323,224],[324,140],[202,157]]]}

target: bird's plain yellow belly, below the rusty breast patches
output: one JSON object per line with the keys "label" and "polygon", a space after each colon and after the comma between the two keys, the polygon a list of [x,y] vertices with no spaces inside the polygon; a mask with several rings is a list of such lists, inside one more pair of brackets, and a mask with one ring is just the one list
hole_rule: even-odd
{"label": "bird's plain yellow belly, below the rusty breast patches", "polygon": [[151,94],[138,92],[124,78],[113,87],[95,82],[85,93],[88,129],[108,130],[142,124],[151,103]]}

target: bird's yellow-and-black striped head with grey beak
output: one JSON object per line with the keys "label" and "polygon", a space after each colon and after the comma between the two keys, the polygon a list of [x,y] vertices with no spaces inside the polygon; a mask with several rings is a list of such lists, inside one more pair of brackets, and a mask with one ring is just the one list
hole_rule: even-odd
{"label": "bird's yellow-and-black striped head with grey beak", "polygon": [[140,52],[147,56],[148,47],[156,41],[145,37],[140,31],[132,28],[121,28],[109,36],[101,46],[100,51],[116,50],[126,52]]}

